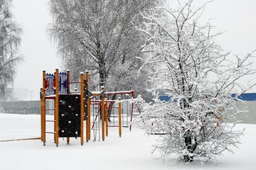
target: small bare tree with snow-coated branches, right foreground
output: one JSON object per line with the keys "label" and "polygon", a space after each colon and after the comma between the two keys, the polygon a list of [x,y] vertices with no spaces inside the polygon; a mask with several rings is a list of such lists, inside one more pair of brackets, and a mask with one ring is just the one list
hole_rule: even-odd
{"label": "small bare tree with snow-coated branches, right foreground", "polygon": [[[149,81],[156,98],[154,103],[142,101],[143,113],[136,121],[146,133],[160,134],[154,147],[163,157],[178,154],[186,162],[195,157],[206,161],[237,147],[243,130],[234,129],[235,115],[244,111],[231,94],[255,85],[239,84],[255,74],[252,53],[234,57],[225,52],[215,42],[220,33],[211,33],[210,23],[199,23],[204,6],[195,9],[192,2],[175,9],[156,8],[144,15],[144,27],[138,27],[150,40],[147,58],[141,60],[143,67],[154,67]],[[159,100],[161,90],[170,101]]]}

